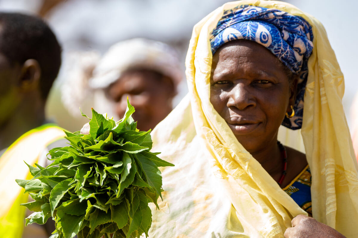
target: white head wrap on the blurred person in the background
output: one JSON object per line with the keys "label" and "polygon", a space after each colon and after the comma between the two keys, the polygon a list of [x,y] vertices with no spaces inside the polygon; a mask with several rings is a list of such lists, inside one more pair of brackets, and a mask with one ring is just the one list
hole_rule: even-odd
{"label": "white head wrap on the blurred person in the background", "polygon": [[89,80],[92,88],[104,88],[129,69],[150,69],[170,77],[174,85],[183,78],[177,52],[163,42],[142,38],[121,41],[110,47]]}

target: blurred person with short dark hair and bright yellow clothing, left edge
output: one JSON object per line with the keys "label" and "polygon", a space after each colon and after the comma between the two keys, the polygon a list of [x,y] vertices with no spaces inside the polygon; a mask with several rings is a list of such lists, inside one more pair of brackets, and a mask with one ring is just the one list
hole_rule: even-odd
{"label": "blurred person with short dark hair and bright yellow clothing, left edge", "polygon": [[[64,136],[46,123],[45,102],[61,65],[61,46],[41,19],[0,13],[0,237],[21,237],[28,194],[15,179],[26,163],[44,163],[46,146]],[[52,231],[50,231],[52,232]]]}

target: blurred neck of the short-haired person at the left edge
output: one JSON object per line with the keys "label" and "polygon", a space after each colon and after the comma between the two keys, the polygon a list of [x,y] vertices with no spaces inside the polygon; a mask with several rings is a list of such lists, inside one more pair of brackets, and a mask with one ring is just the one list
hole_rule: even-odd
{"label": "blurred neck of the short-haired person at the left edge", "polygon": [[44,102],[34,100],[32,96],[24,98],[14,110],[13,115],[0,125],[0,150],[9,147],[25,132],[43,124],[45,120]]}

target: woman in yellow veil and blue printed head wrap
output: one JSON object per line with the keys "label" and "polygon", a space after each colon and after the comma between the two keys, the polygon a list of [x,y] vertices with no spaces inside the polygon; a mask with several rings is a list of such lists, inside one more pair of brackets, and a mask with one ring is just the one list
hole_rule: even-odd
{"label": "woman in yellow veil and blue printed head wrap", "polygon": [[[229,2],[195,25],[186,66],[189,95],[152,133],[175,167],[151,237],[358,237],[343,76],[316,19]],[[305,155],[277,142],[281,123]]]}

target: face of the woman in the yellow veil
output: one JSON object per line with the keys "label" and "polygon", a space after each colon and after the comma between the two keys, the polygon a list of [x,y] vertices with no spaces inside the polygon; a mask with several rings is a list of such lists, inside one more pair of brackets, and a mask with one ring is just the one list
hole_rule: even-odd
{"label": "face of the woman in the yellow veil", "polygon": [[212,105],[248,152],[277,140],[295,83],[269,50],[253,41],[228,42],[213,56],[210,83]]}

